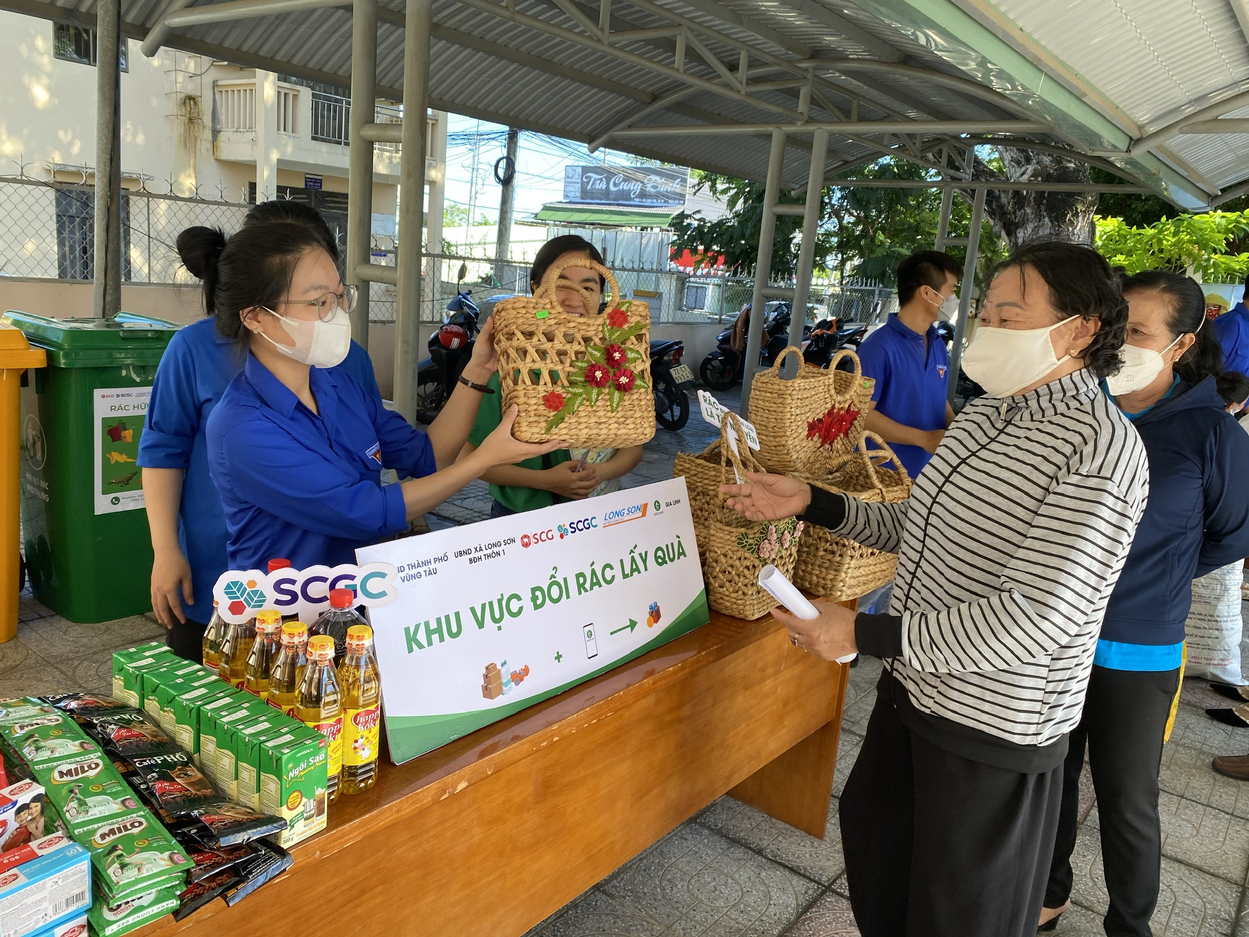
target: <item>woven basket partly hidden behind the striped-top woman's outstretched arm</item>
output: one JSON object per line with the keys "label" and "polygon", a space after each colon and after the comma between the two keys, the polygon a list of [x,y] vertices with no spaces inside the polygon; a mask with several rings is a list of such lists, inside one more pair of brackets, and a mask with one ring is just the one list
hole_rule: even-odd
{"label": "woven basket partly hidden behind the striped-top woman's outstretched arm", "polygon": [[[863,445],[872,440],[879,450]],[[892,461],[897,468],[878,462]],[[893,450],[873,432],[859,436],[854,452],[841,456],[824,478],[803,478],[826,491],[852,495],[862,501],[893,502],[911,496],[911,478]],[[889,582],[898,566],[898,555],[873,550],[844,537],[834,537],[826,527],[807,525],[798,546],[793,583],[807,592],[838,602],[858,598]]]}

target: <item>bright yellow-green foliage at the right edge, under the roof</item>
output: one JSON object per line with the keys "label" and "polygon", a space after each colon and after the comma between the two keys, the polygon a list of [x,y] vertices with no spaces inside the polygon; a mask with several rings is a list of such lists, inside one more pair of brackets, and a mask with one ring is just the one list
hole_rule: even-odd
{"label": "bright yellow-green foliage at the right edge, under the roof", "polygon": [[1128,274],[1189,267],[1203,280],[1229,282],[1249,275],[1249,211],[1174,214],[1133,226],[1122,217],[1095,219],[1094,246]]}

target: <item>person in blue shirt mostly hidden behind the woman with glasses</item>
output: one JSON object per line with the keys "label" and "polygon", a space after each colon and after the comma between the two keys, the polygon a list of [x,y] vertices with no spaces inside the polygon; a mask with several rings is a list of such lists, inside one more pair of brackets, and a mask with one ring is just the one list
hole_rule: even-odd
{"label": "person in blue shirt mostly hidden behind the woman with glasses", "polygon": [[[325,219],[296,201],[261,202],[244,225],[265,221],[307,225],[337,259],[338,245]],[[191,270],[202,279],[202,270]],[[214,316],[181,329],[156,370],[147,424],[139,444],[144,496],[152,538],[152,611],[169,628],[167,643],[181,657],[199,660],[204,630],[212,617],[212,585],[226,571],[226,518],[209,477],[204,430],[245,355],[221,336]],[[356,342],[342,367],[380,399],[373,366]]]}

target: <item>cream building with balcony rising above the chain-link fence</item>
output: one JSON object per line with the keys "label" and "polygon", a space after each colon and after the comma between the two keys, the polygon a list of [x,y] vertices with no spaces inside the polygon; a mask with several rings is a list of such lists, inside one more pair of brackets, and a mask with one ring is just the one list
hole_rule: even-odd
{"label": "cream building with balcony rising above the chain-link fence", "polygon": [[[345,89],[315,86],[124,40],[121,170],[127,189],[216,201],[260,191],[310,201],[346,224]],[[95,36],[0,11],[0,175],[94,184]],[[377,102],[376,120],[401,109]],[[375,146],[373,231],[395,234],[397,145]]]}

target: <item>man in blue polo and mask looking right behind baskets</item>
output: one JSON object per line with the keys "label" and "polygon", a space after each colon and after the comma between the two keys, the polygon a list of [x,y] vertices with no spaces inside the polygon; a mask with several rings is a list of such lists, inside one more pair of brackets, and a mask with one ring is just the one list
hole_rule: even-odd
{"label": "man in blue polo and mask looking right behind baskets", "polygon": [[919,251],[898,265],[897,315],[859,346],[863,375],[876,380],[866,427],[883,439],[914,478],[928,465],[954,411],[945,401],[949,355],[933,327],[958,310],[962,264]]}

